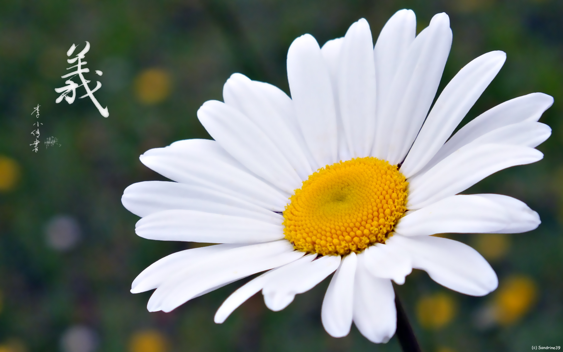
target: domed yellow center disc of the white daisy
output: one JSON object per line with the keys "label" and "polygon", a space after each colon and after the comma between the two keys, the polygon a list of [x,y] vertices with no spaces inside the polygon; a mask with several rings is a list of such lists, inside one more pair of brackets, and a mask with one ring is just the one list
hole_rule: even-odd
{"label": "domed yellow center disc of the white daisy", "polygon": [[385,243],[406,211],[407,184],[396,165],[373,157],[320,168],[289,198],[285,238],[298,251],[320,255]]}

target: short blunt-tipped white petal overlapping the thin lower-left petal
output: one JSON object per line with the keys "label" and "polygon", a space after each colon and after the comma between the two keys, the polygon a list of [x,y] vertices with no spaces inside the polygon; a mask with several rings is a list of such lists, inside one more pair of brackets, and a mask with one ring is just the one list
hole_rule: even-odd
{"label": "short blunt-tipped white petal overlapping the thin lower-left petal", "polygon": [[338,269],[341,256],[305,256],[272,273],[262,293],[267,308],[279,311],[287,307],[297,293],[309,291]]}

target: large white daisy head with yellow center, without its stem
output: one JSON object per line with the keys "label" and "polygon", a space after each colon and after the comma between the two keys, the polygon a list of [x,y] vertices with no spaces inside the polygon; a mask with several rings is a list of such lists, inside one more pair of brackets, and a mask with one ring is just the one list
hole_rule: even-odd
{"label": "large white daisy head with yellow center, without its stem", "polygon": [[131,292],[155,289],[149,311],[262,273],[220,306],[222,323],[262,291],[274,311],[334,275],[321,321],[334,337],[352,322],[373,342],[395,333],[391,280],[413,268],[482,296],[497,275],[474,249],[437,233],[521,233],[540,224],[526,204],[499,194],[459,195],[491,173],[542,159],[551,129],[537,122],[552,97],[531,93],[452,133],[501,69],[488,52],[436,95],[452,44],[446,14],[415,35],[396,12],[375,45],[366,20],[320,47],[309,34],[289,47],[291,97],[233,74],[199,121],[214,140],[177,141],[141,162],[174,182],[129,186],[123,205],[137,235],[217,243],[173,253],[142,271]]}

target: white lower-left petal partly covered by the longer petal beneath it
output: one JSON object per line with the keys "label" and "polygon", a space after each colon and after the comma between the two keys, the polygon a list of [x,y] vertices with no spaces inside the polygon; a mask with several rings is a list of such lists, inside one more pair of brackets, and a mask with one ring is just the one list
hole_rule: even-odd
{"label": "white lower-left petal partly covered by the longer petal beneath it", "polygon": [[200,248],[186,249],[172,253],[158,261],[155,261],[148,268],[137,275],[131,284],[131,293],[139,293],[149,291],[159,287],[169,277],[177,273],[178,270],[187,268],[194,263],[205,259],[209,255],[224,252],[243,246],[242,244],[216,244],[215,246],[207,246]]}

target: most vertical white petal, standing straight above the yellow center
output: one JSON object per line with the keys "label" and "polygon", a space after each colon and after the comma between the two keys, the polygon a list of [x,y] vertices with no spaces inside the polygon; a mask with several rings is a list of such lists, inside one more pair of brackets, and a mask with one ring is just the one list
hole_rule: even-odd
{"label": "most vertical white petal, standing straight above the yellow center", "polygon": [[376,127],[376,69],[372,32],[360,19],[346,32],[338,66],[338,103],[348,148],[354,158],[369,156]]}

